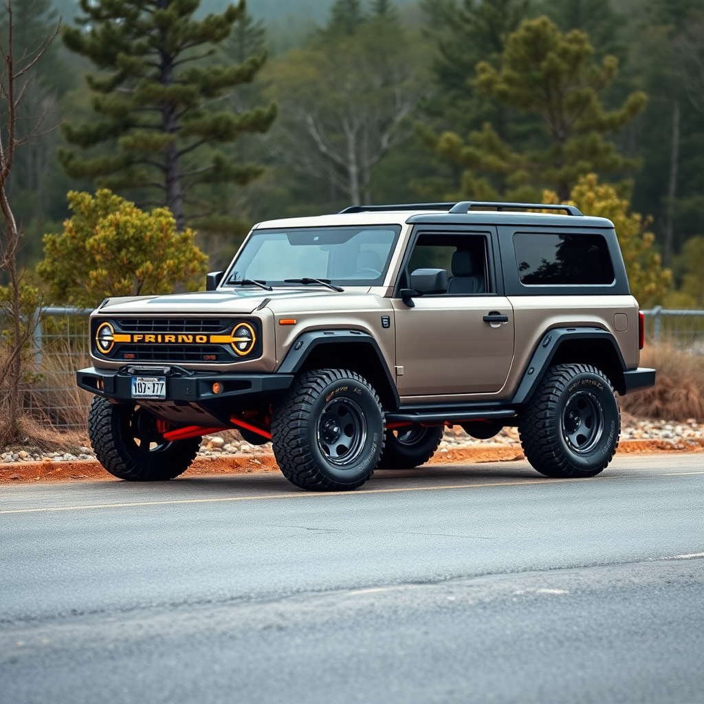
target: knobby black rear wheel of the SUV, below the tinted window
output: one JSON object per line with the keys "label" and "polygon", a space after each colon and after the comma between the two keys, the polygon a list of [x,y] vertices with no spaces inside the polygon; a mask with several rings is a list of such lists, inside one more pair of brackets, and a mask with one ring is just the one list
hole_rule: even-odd
{"label": "knobby black rear wheel of the SUV, below the tinted window", "polygon": [[531,465],[546,477],[593,477],[618,447],[621,413],[596,367],[550,367],[522,411],[518,432]]}

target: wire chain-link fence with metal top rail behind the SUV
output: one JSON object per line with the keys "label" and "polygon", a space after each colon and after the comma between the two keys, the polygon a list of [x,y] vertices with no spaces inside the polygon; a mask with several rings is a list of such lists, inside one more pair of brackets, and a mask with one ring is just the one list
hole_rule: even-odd
{"label": "wire chain-link fence with metal top rail behind the SUV", "polygon": [[[37,310],[32,339],[32,370],[25,410],[54,427],[83,429],[91,395],[78,389],[75,372],[90,365],[88,317],[91,309]],[[648,344],[670,344],[704,354],[704,310],[643,310]],[[1,315],[1,314],[0,314]],[[7,319],[0,318],[3,334]]]}

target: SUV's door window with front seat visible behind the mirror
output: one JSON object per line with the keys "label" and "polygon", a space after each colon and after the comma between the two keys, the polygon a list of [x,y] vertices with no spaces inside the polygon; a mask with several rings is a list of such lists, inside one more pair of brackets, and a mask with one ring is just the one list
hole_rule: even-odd
{"label": "SUV's door window with front seat visible behind the mirror", "polygon": [[481,234],[421,234],[406,267],[406,280],[416,269],[444,269],[447,294],[470,296],[490,291],[486,237]]}

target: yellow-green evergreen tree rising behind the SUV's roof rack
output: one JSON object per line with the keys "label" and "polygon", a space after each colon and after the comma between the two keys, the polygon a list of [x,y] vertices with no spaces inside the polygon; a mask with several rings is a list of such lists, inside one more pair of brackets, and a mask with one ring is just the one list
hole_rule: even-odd
{"label": "yellow-green evergreen tree rising behind the SUV's roof rack", "polygon": [[[646,96],[631,93],[606,111],[599,94],[617,72],[617,60],[593,62],[584,32],[562,34],[546,17],[525,20],[506,39],[500,68],[477,65],[474,86],[508,108],[537,115],[543,125],[541,149],[518,151],[489,123],[467,142],[458,134],[424,134],[436,153],[465,168],[463,196],[539,199],[536,188],[549,184],[560,200],[570,196],[579,176],[589,172],[635,170],[639,162],[615,151],[605,134],[618,130],[643,110]],[[512,192],[513,190],[513,192]]]}

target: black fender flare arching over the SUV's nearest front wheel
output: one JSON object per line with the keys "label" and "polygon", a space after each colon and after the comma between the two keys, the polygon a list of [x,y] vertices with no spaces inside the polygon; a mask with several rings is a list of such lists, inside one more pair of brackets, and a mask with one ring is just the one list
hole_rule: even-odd
{"label": "black fender flare arching over the SUV's nearest front wheel", "polygon": [[401,398],[398,396],[396,381],[394,380],[394,376],[391,375],[389,365],[386,364],[384,355],[374,337],[361,330],[310,330],[309,332],[301,333],[296,338],[294,344],[291,345],[291,348],[276,370],[276,373],[296,374],[301,370],[304,363],[306,363],[306,359],[310,356],[310,353],[321,345],[346,344],[363,344],[369,346],[370,351],[375,354],[384,372],[384,386],[386,386],[386,388],[383,390],[377,389],[377,391],[380,392],[380,395],[386,392],[384,393],[386,397],[386,403],[384,404],[386,410],[398,410],[401,406]]}

